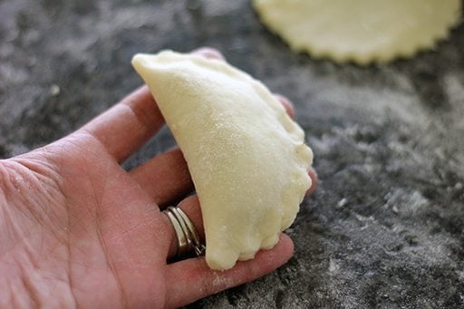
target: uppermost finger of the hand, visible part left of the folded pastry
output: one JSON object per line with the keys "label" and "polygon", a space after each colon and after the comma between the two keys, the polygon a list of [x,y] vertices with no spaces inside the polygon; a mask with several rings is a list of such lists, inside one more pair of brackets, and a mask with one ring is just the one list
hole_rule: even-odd
{"label": "uppermost finger of the hand, visible part left of the folded pastry", "polygon": [[147,86],[142,86],[79,131],[90,133],[121,163],[163,124],[164,119],[153,96]]}

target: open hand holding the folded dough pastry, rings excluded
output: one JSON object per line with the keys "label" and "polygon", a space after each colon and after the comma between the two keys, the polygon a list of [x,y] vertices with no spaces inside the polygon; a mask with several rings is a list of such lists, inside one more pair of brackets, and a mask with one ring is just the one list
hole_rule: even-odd
{"label": "open hand holding the folded dough pastry, rings excluded", "polygon": [[177,307],[292,256],[282,234],[273,249],[224,272],[210,270],[204,257],[167,263],[177,243],[160,209],[184,198],[179,207],[203,231],[198,198],[185,198],[193,188],[186,162],[175,149],[121,168],[163,124],[141,87],[62,140],[0,160],[0,307]]}

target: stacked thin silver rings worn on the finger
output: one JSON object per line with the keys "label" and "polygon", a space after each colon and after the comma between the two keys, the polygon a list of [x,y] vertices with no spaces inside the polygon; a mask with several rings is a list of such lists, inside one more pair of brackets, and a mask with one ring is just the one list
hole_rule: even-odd
{"label": "stacked thin silver rings worn on the finger", "polygon": [[197,229],[185,212],[173,206],[169,206],[164,212],[168,215],[178,238],[176,256],[187,256],[192,252],[195,252],[197,256],[202,256],[205,253],[206,247],[201,243]]}

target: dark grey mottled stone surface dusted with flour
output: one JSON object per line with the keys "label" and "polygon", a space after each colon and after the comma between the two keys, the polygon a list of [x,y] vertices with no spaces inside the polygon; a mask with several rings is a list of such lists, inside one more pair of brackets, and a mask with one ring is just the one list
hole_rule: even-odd
{"label": "dark grey mottled stone surface dusted with flour", "polygon": [[[0,1],[0,157],[78,128],[140,84],[131,56],[211,45],[295,101],[321,179],[295,257],[203,308],[464,306],[464,26],[360,68],[291,53],[247,1]],[[173,144],[167,130],[128,169]]]}

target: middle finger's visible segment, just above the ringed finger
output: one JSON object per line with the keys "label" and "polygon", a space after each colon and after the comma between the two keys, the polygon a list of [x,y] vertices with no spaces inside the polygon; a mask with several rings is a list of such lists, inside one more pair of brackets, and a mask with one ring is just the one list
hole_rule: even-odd
{"label": "middle finger's visible segment, just above the ringed finger", "polygon": [[193,190],[187,162],[179,149],[169,150],[132,169],[131,176],[161,208]]}

